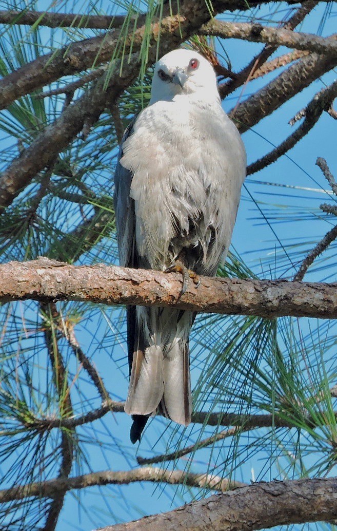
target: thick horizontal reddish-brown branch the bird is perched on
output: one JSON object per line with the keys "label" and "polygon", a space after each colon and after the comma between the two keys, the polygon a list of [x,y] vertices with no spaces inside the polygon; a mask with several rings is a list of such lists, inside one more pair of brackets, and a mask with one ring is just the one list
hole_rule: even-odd
{"label": "thick horizontal reddish-brown branch the bird is perched on", "polygon": [[45,258],[0,265],[2,302],[34,299],[175,307],[206,313],[337,317],[337,285],[201,277],[183,296],[178,273],[103,264],[76,267]]}

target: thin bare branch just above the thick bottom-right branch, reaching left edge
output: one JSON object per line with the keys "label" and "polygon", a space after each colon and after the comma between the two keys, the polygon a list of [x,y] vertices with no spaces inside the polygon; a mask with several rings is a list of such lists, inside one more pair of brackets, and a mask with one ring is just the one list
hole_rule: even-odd
{"label": "thin bare branch just above the thick bottom-right branch, reaching left edge", "polygon": [[142,467],[133,470],[123,470],[123,472],[102,470],[102,472],[92,472],[91,474],[77,477],[49,479],[49,481],[42,483],[14,486],[11,489],[0,491],[0,503],[31,497],[53,498],[55,493],[62,493],[64,496],[67,491],[85,489],[94,485],[127,485],[139,481],[163,482],[171,485],[185,484],[191,487],[208,488],[220,492],[226,492],[228,489],[235,489],[245,485],[245,483],[235,481],[229,482],[228,479],[222,479],[211,474],[193,474],[184,470],[162,470],[155,467]]}

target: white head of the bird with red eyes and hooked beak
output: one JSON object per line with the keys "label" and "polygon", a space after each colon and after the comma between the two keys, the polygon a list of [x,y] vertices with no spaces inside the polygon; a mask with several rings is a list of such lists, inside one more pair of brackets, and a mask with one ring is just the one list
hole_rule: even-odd
{"label": "white head of the bird with red eyes and hooked beak", "polygon": [[219,100],[213,67],[193,50],[173,50],[155,65],[150,104],[171,101],[178,95],[203,101]]}

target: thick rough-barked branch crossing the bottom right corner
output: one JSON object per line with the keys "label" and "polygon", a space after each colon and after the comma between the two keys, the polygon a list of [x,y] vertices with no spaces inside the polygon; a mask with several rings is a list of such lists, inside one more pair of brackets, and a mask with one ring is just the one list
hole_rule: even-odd
{"label": "thick rough-barked branch crossing the bottom right corner", "polygon": [[102,531],[253,531],[282,524],[333,520],[337,478],[253,483],[161,515]]}

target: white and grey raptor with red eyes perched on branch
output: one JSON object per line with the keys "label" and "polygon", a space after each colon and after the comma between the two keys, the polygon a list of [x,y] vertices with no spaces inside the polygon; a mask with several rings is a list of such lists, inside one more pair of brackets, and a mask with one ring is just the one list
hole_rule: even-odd
{"label": "white and grey raptor with red eyes perched on branch", "polygon": [[[210,62],[192,49],[155,64],[149,105],[125,130],[114,204],[122,267],[214,276],[234,228],[246,151],[222,109]],[[195,280],[195,279],[194,279]],[[186,287],[186,286],[185,286]],[[185,289],[185,288],[184,288]],[[191,422],[189,332],[195,312],[127,306],[132,443],[160,412]]]}

